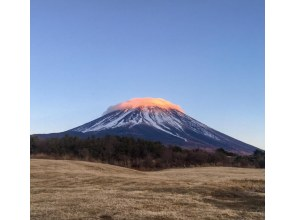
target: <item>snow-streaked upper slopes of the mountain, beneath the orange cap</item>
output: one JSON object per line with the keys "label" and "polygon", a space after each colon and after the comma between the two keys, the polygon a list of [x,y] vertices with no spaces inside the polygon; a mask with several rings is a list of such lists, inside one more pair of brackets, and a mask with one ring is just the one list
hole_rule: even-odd
{"label": "snow-streaked upper slopes of the mountain, beneath the orange cap", "polygon": [[140,125],[149,126],[168,135],[188,142],[186,131],[219,140],[208,126],[196,121],[176,108],[158,107],[154,105],[125,107],[110,111],[102,117],[72,129],[75,132],[100,132],[108,129],[131,129]]}

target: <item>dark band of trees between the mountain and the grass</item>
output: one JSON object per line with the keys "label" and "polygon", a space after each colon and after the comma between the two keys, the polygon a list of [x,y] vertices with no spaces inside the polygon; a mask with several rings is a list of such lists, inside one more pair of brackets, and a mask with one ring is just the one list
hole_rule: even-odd
{"label": "dark band of trees between the mountain and the grass", "polygon": [[193,166],[265,167],[265,152],[261,150],[249,156],[241,156],[222,148],[214,152],[188,150],[178,146],[164,146],[156,141],[120,136],[40,139],[32,135],[30,154],[31,158],[103,162],[138,170]]}

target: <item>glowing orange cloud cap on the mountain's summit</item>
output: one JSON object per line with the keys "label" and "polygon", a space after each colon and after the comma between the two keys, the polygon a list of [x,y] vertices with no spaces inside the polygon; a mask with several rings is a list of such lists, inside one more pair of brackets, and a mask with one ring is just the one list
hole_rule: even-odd
{"label": "glowing orange cloud cap on the mountain's summit", "polygon": [[180,112],[184,112],[184,110],[165,99],[162,98],[133,98],[125,102],[121,102],[117,105],[110,106],[104,114],[123,109],[132,109],[132,108],[140,108],[140,107],[159,107],[163,109],[175,109]]}

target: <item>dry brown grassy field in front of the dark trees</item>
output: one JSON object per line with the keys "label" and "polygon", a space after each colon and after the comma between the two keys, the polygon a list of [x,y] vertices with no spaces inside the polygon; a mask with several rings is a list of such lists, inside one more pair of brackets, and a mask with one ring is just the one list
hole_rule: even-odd
{"label": "dry brown grassy field in front of the dark trees", "polygon": [[264,219],[264,169],[31,160],[31,219]]}

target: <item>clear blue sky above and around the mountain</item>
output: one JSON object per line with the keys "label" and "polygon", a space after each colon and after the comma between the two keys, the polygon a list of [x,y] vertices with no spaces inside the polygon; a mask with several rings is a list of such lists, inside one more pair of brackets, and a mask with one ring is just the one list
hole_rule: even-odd
{"label": "clear blue sky above and around the mountain", "polygon": [[31,133],[160,97],[264,149],[263,0],[31,0]]}

